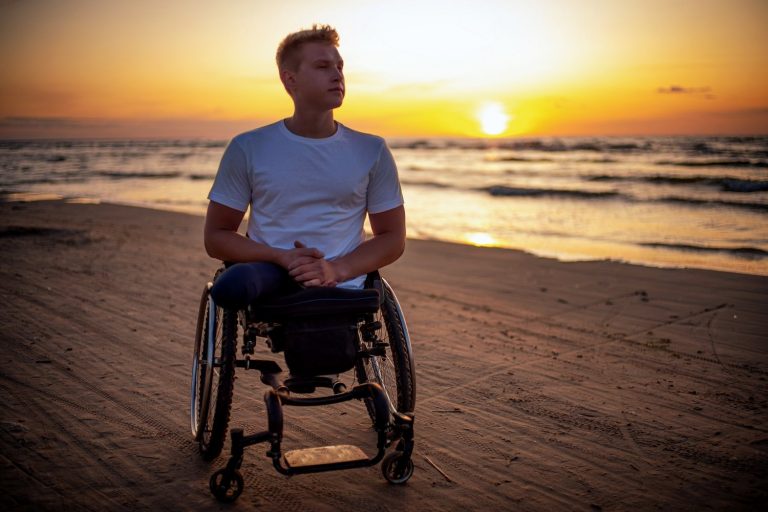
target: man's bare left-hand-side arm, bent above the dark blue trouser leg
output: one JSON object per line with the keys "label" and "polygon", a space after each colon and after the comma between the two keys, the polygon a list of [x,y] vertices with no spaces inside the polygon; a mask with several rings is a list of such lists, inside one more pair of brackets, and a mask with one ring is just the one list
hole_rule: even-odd
{"label": "man's bare left-hand-side arm, bent above the dark blue trouser leg", "polygon": [[267,261],[288,268],[297,258],[323,257],[317,249],[277,249],[246,238],[237,232],[245,212],[215,201],[208,203],[205,215],[205,250],[212,258],[233,263]]}

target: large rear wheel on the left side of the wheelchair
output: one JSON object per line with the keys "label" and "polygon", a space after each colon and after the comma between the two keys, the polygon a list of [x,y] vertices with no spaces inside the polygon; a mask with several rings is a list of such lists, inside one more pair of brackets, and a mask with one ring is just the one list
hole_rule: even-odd
{"label": "large rear wheel on the left side of the wheelchair", "polygon": [[208,288],[198,313],[192,362],[191,424],[205,460],[224,447],[235,380],[237,312],[216,306]]}

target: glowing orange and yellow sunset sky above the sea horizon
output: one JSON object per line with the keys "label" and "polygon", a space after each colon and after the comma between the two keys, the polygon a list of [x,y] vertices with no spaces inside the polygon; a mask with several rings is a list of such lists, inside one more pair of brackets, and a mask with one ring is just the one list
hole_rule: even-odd
{"label": "glowing orange and yellow sunset sky above the sea horizon", "polygon": [[768,134],[767,0],[0,0],[0,138],[211,138],[288,117],[274,53],[341,36],[388,137]]}

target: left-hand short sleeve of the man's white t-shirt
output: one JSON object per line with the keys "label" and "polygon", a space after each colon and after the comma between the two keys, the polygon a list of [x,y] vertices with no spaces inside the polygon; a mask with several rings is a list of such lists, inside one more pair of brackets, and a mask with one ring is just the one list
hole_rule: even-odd
{"label": "left-hand short sleeve of the man's white t-shirt", "polygon": [[248,162],[237,139],[232,139],[224,150],[208,199],[241,212],[248,209],[251,202]]}

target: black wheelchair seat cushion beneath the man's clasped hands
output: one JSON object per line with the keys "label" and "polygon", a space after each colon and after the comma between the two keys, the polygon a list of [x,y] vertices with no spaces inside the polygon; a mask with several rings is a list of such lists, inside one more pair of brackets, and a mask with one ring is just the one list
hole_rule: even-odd
{"label": "black wheelchair seat cushion beneath the man's clasped hands", "polygon": [[289,295],[261,300],[251,307],[262,321],[281,321],[326,315],[360,315],[379,309],[375,289],[305,288]]}

